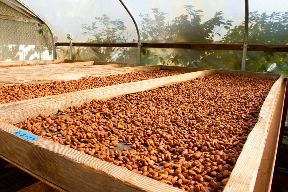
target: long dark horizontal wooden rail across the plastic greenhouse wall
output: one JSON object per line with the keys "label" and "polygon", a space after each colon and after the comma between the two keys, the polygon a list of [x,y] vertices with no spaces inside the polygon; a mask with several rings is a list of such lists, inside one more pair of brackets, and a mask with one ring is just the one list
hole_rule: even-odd
{"label": "long dark horizontal wooden rail across the plastic greenhouse wall", "polygon": [[[55,46],[70,46],[69,42],[56,42]],[[91,43],[73,42],[75,47],[137,47],[137,42],[122,43]],[[141,43],[143,48],[171,48],[171,49],[196,49],[196,50],[239,50],[242,51],[242,42],[223,43]],[[248,43],[248,51],[288,52],[288,45],[267,45],[263,43]]]}

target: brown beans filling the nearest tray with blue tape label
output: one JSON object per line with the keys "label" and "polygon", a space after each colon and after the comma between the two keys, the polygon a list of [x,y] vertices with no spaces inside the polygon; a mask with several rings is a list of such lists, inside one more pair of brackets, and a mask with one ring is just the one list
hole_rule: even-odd
{"label": "brown beans filling the nearest tray with blue tape label", "polygon": [[214,74],[15,126],[186,191],[222,191],[274,82]]}

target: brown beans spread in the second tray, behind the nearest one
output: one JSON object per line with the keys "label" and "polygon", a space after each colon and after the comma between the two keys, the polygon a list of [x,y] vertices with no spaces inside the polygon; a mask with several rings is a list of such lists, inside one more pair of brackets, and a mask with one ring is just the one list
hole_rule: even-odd
{"label": "brown beans spread in the second tray, behind the nearest one", "polygon": [[142,81],[171,75],[179,75],[186,72],[168,71],[168,70],[152,70],[144,72],[134,72],[119,75],[110,75],[107,77],[84,77],[80,80],[69,81],[53,81],[50,83],[21,84],[12,86],[3,86],[0,88],[0,104],[26,99],[33,99],[49,95],[58,95],[74,91],[81,91],[109,85],[117,85],[122,83],[130,83],[134,81]]}

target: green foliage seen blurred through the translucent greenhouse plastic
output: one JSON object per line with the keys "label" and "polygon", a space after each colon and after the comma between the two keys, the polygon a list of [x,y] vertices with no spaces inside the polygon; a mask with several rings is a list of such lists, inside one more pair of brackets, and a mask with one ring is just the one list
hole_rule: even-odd
{"label": "green foliage seen blurred through the translucent greenhouse plastic", "polygon": [[[185,6],[186,13],[168,21],[167,13],[152,9],[153,15],[142,14],[140,33],[142,42],[243,42],[244,20],[232,28],[232,21],[216,12],[206,22],[202,20],[202,10],[192,5]],[[261,42],[272,45],[288,45],[288,12],[249,13],[249,42]],[[125,23],[111,20],[109,16],[96,17],[91,25],[82,24],[83,34],[92,36],[88,42],[109,43],[126,42],[134,33],[125,33]],[[219,30],[227,30],[221,37]],[[67,39],[71,39],[67,34]],[[58,57],[68,58],[67,47],[57,47]],[[102,60],[111,62],[135,63],[137,50],[123,47],[74,47],[75,59]],[[169,64],[177,66],[202,67],[212,69],[240,70],[242,51],[233,50],[188,50],[188,49],[152,49],[141,48],[141,65]],[[284,73],[288,75],[288,56],[286,52],[249,52],[246,71]]]}

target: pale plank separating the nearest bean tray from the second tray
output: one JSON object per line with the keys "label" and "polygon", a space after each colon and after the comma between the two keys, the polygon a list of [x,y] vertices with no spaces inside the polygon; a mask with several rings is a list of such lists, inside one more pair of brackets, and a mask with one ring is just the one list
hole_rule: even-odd
{"label": "pale plank separating the nearest bean tray from the second tray", "polygon": [[173,75],[168,77],[148,79],[144,81],[123,83],[90,90],[5,103],[0,105],[0,120],[18,123],[19,121],[22,121],[28,117],[36,117],[40,113],[57,113],[58,109],[66,109],[72,105],[81,105],[85,102],[90,102],[92,99],[98,98],[99,100],[109,100],[113,97],[155,89],[182,81],[195,79],[197,77],[204,77],[214,73],[214,69],[197,71],[181,75]]}

